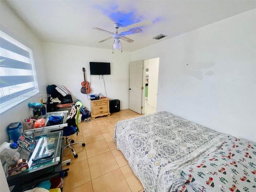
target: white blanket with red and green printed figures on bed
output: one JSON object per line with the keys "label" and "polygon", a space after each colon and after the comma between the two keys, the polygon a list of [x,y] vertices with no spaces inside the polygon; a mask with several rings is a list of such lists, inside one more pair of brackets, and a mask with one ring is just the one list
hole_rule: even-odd
{"label": "white blanket with red and green printed figures on bed", "polygon": [[256,144],[229,136],[220,149],[182,169],[180,175],[184,179],[180,192],[256,192]]}

